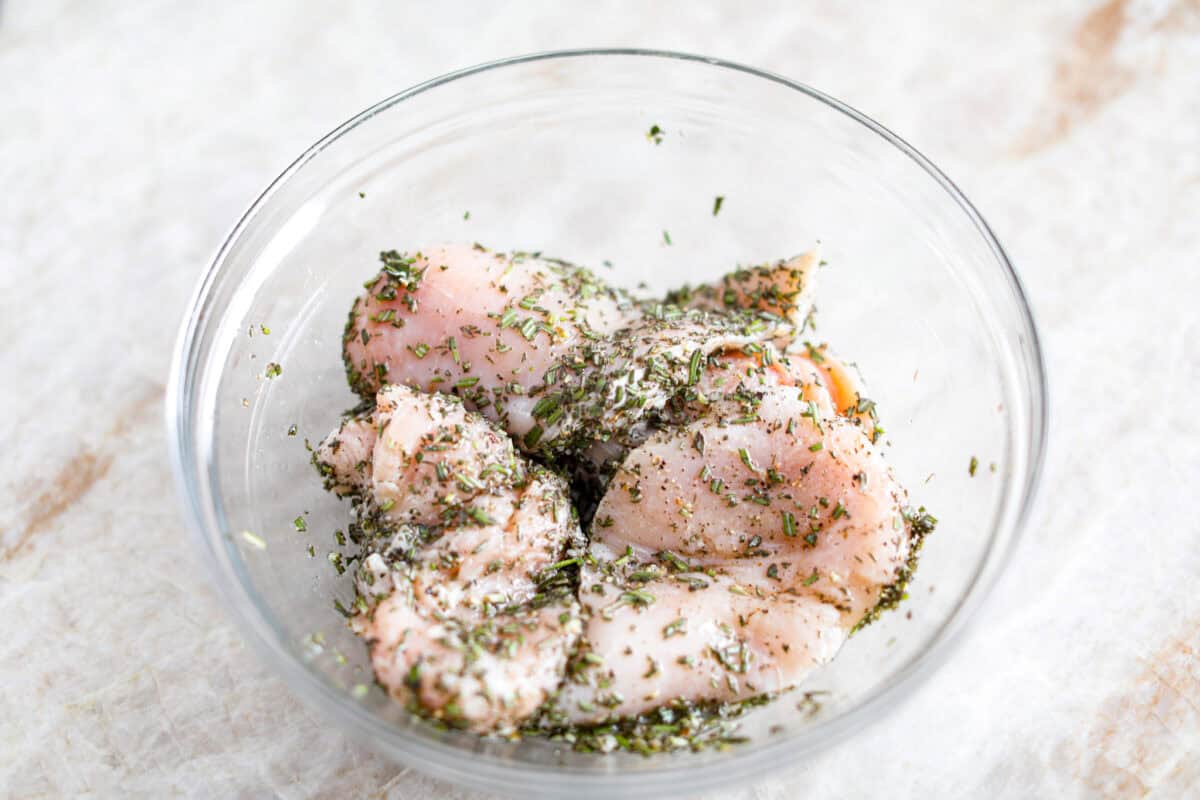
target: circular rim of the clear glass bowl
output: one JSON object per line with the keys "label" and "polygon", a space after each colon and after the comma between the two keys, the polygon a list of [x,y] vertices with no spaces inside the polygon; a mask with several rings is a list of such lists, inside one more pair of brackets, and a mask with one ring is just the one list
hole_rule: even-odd
{"label": "circular rim of the clear glass bowl", "polygon": [[[810,736],[806,742],[797,742],[788,739],[775,742],[764,741],[756,747],[743,751],[743,756],[734,756],[714,764],[700,766],[691,764],[672,766],[664,758],[664,769],[653,772],[638,770],[629,774],[592,774],[569,768],[514,766],[479,753],[473,753],[468,757],[470,765],[469,770],[467,770],[462,769],[461,762],[464,757],[462,751],[436,742],[415,732],[397,730],[370,711],[356,704],[348,703],[347,696],[319,680],[299,662],[280,637],[275,634],[275,628],[263,619],[260,612],[251,614],[247,610],[254,607],[251,595],[245,584],[238,578],[238,570],[230,563],[228,553],[222,552],[224,548],[217,547],[215,540],[220,540],[221,536],[209,534],[204,521],[211,509],[203,506],[204,499],[198,497],[194,491],[197,480],[194,467],[196,453],[193,452],[191,441],[192,420],[187,409],[187,398],[191,396],[188,387],[197,377],[199,365],[197,363],[197,359],[192,356],[196,354],[198,335],[205,323],[206,314],[204,311],[206,302],[221,277],[234,242],[241,237],[247,227],[269,205],[272,197],[284,184],[299,173],[306,163],[337,142],[342,136],[410,97],[462,78],[540,61],[590,59],[596,56],[689,61],[709,65],[720,70],[740,72],[780,84],[808,96],[810,100],[823,103],[858,122],[908,156],[932,178],[950,196],[978,230],[979,235],[985,240],[1015,297],[1016,311],[1019,312],[1019,326],[1024,329],[1022,333],[1026,337],[1027,345],[1025,361],[1019,365],[1025,368],[1024,372],[1028,379],[1030,390],[1028,397],[1022,398],[1030,403],[1027,469],[1024,485],[1018,487],[1018,492],[1013,495],[1018,498],[1019,505],[1009,522],[1010,531],[1006,546],[1003,549],[994,552],[990,557],[985,558],[983,565],[977,570],[966,594],[958,603],[958,608],[942,625],[942,628],[930,645],[899,669],[888,685],[866,696],[850,711],[836,718],[816,723],[812,732],[820,733],[820,736]],[[929,158],[883,125],[804,83],[725,59],[653,48],[546,50],[478,64],[448,72],[396,92],[355,114],[318,139],[280,173],[253,203],[250,204],[238,222],[229,229],[222,245],[209,263],[204,276],[198,282],[188,302],[187,313],[180,325],[164,398],[170,467],[176,493],[184,506],[182,515],[187,529],[202,559],[208,564],[210,577],[218,587],[217,594],[221,601],[230,615],[238,620],[242,637],[251,643],[252,649],[256,650],[260,660],[282,675],[289,691],[299,697],[301,702],[314,708],[326,718],[336,721],[343,732],[354,735],[388,758],[460,786],[505,794],[516,794],[520,792],[529,796],[560,792],[568,784],[574,793],[581,796],[599,796],[600,793],[612,790],[620,790],[623,795],[628,796],[662,796],[665,794],[680,794],[728,786],[745,781],[746,778],[762,777],[768,771],[780,769],[791,759],[811,757],[817,752],[828,750],[851,733],[878,721],[893,710],[900,700],[911,696],[936,669],[946,663],[950,652],[960,644],[967,622],[978,613],[984,599],[990,594],[997,578],[1009,564],[1025,529],[1028,527],[1036,505],[1049,435],[1048,408],[1049,390],[1044,354],[1025,287],[1013,267],[1007,252],[983,216],[959,187],[934,166]],[[992,543],[989,546],[989,549],[994,549],[995,536],[996,533],[994,531]],[[991,560],[990,564],[989,558]],[[385,746],[388,739],[395,738],[400,739],[401,747]],[[785,756],[790,758],[785,758]],[[458,766],[456,768],[452,762],[460,762]],[[552,780],[556,777],[560,778],[560,781]],[[551,780],[547,781],[547,778]]]}

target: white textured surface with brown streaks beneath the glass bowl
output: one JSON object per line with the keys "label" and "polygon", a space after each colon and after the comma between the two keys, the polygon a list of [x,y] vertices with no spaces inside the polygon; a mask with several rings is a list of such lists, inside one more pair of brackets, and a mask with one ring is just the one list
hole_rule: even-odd
{"label": "white textured surface with brown streaks beneath the glass bowl", "polygon": [[415,5],[0,8],[0,795],[460,796],[246,651],[178,518],[168,351],[236,215],[334,124],[592,44],[883,121],[988,216],[1045,338],[1042,512],[973,633],[866,733],[727,796],[1200,793],[1200,4]]}

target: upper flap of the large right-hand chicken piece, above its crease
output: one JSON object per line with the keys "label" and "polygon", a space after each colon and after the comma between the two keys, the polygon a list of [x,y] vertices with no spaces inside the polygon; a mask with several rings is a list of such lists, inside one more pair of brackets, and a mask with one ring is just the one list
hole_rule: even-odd
{"label": "upper flap of the large right-hand chicken piece, above its crease", "polygon": [[632,451],[596,510],[593,542],[631,546],[637,560],[673,551],[773,590],[816,570],[803,593],[857,624],[907,560],[904,488],[858,426],[814,415],[791,392],[764,393],[752,416],[702,419]]}

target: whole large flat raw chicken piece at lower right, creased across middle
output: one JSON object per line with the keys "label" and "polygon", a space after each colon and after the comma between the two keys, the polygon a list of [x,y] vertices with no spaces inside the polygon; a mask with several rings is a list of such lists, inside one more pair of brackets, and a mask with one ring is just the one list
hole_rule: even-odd
{"label": "whole large flat raw chicken piece at lower right, creased across middle", "polygon": [[[570,720],[794,686],[904,581],[920,531],[862,429],[787,386],[752,408],[655,433],[618,469],[582,569],[594,668],[572,670],[560,696]],[[686,639],[690,664],[662,628],[672,615],[713,620]],[[714,680],[734,645],[744,668]],[[629,666],[650,660],[656,670]]]}

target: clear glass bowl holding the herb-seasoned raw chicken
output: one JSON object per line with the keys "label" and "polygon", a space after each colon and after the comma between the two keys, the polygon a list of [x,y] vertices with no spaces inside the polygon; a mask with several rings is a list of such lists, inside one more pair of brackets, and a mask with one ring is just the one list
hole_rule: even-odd
{"label": "clear glass bowl holding the herb-seasoned raw chicken", "polygon": [[[654,125],[660,144],[647,136]],[[828,266],[816,336],[857,362],[892,464],[941,519],[904,610],[854,636],[803,687],[828,692],[820,710],[798,710],[793,692],[746,718],[748,744],[643,758],[437,730],[376,688],[334,607],[353,597],[349,575],[326,559],[347,506],[322,491],[304,441],[355,402],[341,333],[378,252],[479,241],[661,290],[817,240]],[[265,378],[269,362],[282,374]],[[185,515],[263,657],[331,724],[396,760],[522,796],[708,789],[796,763],[877,718],[946,658],[1007,561],[1046,426],[1042,356],[1016,275],[929,161],[808,86],[630,50],[457,72],[318,142],[221,247],[169,386]]]}

